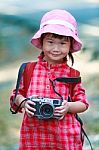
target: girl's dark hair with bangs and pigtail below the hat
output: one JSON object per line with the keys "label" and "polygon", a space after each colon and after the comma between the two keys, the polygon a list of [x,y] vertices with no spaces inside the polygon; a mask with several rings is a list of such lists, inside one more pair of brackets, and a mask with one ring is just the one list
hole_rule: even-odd
{"label": "girl's dark hair with bangs and pigtail below the hat", "polygon": [[[43,33],[43,34],[41,35],[41,38],[40,38],[41,45],[43,45],[43,39],[44,39],[44,37],[46,36],[46,34],[49,34],[49,33]],[[63,38],[63,35],[58,35],[58,34],[52,33],[52,37],[61,39],[61,38]],[[64,37],[65,37],[65,36],[64,36]],[[71,49],[72,49],[72,46],[73,46],[73,45],[72,45],[73,38],[72,38],[72,37],[69,37],[69,36],[67,36],[66,38],[67,38],[67,40],[70,38]],[[41,52],[41,56],[42,56],[42,58],[44,57],[44,52],[43,52],[43,51]],[[73,57],[73,55],[72,55],[72,53],[71,53],[70,51],[69,51],[69,53],[68,53],[68,56],[69,56],[69,59],[70,59],[71,62],[72,62],[72,66],[73,66],[73,64],[74,64],[74,57]],[[66,61],[66,60],[67,60],[67,58],[64,57],[64,61]]]}

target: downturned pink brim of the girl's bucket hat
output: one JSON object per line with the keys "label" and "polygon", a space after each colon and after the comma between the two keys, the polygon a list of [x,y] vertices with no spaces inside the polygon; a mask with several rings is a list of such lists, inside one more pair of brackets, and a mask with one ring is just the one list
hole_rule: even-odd
{"label": "downturned pink brim of the girl's bucket hat", "polygon": [[46,25],[42,29],[39,29],[38,32],[32,37],[31,43],[37,48],[42,48],[40,43],[40,37],[43,33],[55,33],[63,36],[70,36],[74,39],[72,49],[70,50],[72,53],[79,51],[82,47],[82,42],[74,32],[63,26],[63,25]]}

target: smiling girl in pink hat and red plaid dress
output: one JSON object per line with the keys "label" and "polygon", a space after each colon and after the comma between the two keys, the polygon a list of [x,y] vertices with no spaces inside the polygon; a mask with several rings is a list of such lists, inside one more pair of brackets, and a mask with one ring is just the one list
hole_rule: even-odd
{"label": "smiling girl in pink hat and red plaid dress", "polygon": [[[61,101],[60,96],[53,89],[52,81],[58,77],[70,77],[71,67],[67,64],[68,56],[73,65],[72,53],[79,51],[82,46],[75,18],[69,12],[59,9],[47,12],[43,16],[40,29],[31,42],[42,51],[32,73],[27,93],[23,92],[24,80],[23,78],[21,80],[13,109],[33,95],[36,95],[36,98],[44,97]],[[77,70],[74,71],[79,75]],[[85,90],[81,82],[73,85],[72,92],[67,83],[55,81],[54,86],[63,98],[62,105],[54,109],[54,117],[39,119],[35,116],[34,101],[27,100],[22,103],[21,109],[24,109],[25,113],[20,131],[19,150],[82,150],[81,126],[75,114],[84,112],[88,108]],[[68,101],[69,93],[72,102]],[[14,95],[15,90],[10,103]]]}

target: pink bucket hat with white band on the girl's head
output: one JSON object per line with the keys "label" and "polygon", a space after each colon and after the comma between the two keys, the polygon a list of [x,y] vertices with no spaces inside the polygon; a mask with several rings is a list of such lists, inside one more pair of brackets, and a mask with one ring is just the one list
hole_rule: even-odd
{"label": "pink bucket hat with white band on the girl's head", "polygon": [[47,12],[41,19],[40,29],[32,37],[31,43],[37,48],[42,48],[40,37],[43,33],[55,33],[63,36],[70,36],[73,40],[73,46],[70,51],[79,51],[82,42],[78,37],[77,23],[75,18],[67,11],[55,9]]}

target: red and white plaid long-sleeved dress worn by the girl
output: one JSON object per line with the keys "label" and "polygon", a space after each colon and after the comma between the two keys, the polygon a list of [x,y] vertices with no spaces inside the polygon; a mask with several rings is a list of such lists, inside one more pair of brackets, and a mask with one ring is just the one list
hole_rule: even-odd
{"label": "red and white plaid long-sleeved dress worn by the girl", "polygon": [[[47,62],[39,60],[33,71],[27,97],[39,95],[60,99],[53,91],[49,79],[53,80],[64,76],[70,77],[70,67],[66,63],[48,67]],[[22,80],[20,91],[23,86]],[[69,85],[55,82],[55,87],[56,91],[67,101]],[[14,92],[10,102],[13,96]],[[88,107],[85,90],[81,83],[74,86],[72,101],[81,101]],[[80,123],[76,120],[75,115],[70,113],[67,113],[62,120],[39,120],[37,117],[30,118],[25,113],[20,131],[19,150],[82,150]]]}

